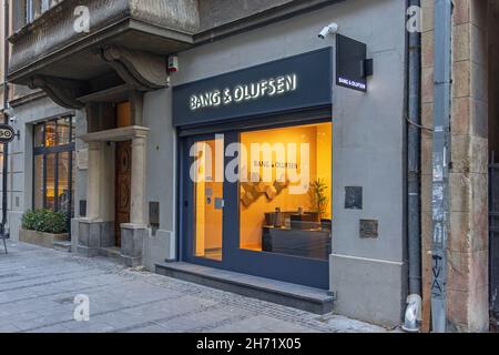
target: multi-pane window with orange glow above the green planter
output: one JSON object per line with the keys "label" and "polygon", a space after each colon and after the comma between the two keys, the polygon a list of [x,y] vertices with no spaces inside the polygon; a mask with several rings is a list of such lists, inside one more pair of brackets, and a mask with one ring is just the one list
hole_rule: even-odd
{"label": "multi-pane window with orange glow above the green planter", "polygon": [[75,120],[64,116],[33,129],[33,209],[74,215]]}

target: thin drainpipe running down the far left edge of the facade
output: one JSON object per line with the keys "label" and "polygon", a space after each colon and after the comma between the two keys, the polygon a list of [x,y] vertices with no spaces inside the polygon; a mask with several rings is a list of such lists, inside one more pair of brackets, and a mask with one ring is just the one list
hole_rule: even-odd
{"label": "thin drainpipe running down the far left edge of the facade", "polygon": [[[9,42],[7,37],[9,36],[10,24],[9,24],[9,0],[4,1],[3,11],[3,22],[4,22],[4,42],[3,42],[3,54],[4,54],[4,68],[3,68],[3,109],[6,110],[9,103],[9,84],[7,83],[7,71],[9,70]],[[3,120],[6,124],[9,124],[9,118],[3,114]],[[7,172],[9,168],[9,144],[3,144],[3,174],[2,174],[2,224],[0,232],[3,234],[7,226]]]}

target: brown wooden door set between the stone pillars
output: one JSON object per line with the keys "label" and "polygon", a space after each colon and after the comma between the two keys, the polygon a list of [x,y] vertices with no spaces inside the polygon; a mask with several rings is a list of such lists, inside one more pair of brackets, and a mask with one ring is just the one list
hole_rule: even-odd
{"label": "brown wooden door set between the stone pillars", "polygon": [[121,246],[121,224],[130,223],[130,185],[132,178],[132,142],[116,143],[115,162],[115,217],[114,232],[116,246]]}

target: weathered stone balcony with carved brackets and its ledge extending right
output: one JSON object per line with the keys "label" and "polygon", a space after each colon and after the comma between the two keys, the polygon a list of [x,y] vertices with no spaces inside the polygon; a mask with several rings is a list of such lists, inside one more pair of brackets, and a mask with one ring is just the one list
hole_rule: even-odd
{"label": "weathered stone balcony with carved brackets and its ledge extending right", "polygon": [[[171,53],[338,1],[51,1],[9,38],[9,80],[67,108],[115,102],[167,87]],[[14,23],[28,13],[22,3],[13,1]]]}

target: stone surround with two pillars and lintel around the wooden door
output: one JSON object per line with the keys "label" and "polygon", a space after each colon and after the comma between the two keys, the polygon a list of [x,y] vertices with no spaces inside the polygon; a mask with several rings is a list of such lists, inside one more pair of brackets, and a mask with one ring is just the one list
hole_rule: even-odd
{"label": "stone surround with two pillars and lintel around the wooden door", "polygon": [[105,186],[105,142],[132,142],[130,223],[122,224],[121,258],[126,266],[142,263],[143,241],[147,235],[145,216],[146,139],[149,129],[131,125],[80,135],[89,144],[89,171],[86,180],[86,219],[80,221],[80,254],[99,255],[112,246],[110,242],[110,216],[101,203],[101,187]]}

